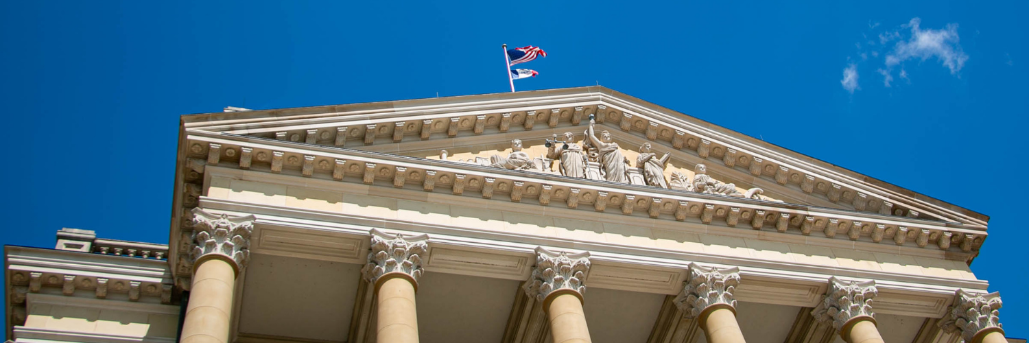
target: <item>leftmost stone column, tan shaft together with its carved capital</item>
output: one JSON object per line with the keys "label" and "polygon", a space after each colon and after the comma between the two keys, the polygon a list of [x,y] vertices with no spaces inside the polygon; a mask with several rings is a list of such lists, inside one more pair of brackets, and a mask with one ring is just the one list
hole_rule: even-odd
{"label": "leftmost stone column, tan shaft together with its carved capital", "polygon": [[236,277],[250,256],[253,215],[229,217],[192,209],[192,283],[182,343],[227,343]]}

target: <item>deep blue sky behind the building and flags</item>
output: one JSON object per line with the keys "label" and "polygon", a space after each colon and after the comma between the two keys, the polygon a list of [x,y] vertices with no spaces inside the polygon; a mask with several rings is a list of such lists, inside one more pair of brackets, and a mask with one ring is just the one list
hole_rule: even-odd
{"label": "deep blue sky behind the building and flags", "polygon": [[[178,116],[602,84],[992,217],[1029,337],[1025,1],[0,2],[3,244],[167,242]],[[889,84],[887,85],[887,78]]]}

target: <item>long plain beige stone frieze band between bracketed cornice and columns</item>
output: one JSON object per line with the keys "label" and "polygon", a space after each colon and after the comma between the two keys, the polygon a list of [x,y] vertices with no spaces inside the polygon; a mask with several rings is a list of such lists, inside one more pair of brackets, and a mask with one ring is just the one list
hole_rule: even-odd
{"label": "long plain beige stone frieze band between bracketed cornice and columns", "polygon": [[[224,183],[224,182],[222,182]],[[666,222],[636,216],[609,222],[565,217],[570,210],[559,206],[538,208],[524,213],[510,210],[510,203],[478,201],[427,193],[427,201],[388,197],[391,195],[354,195],[296,185],[275,185],[230,180],[227,199],[255,204],[399,219],[510,234],[557,237],[576,242],[600,242],[633,247],[655,247],[678,251],[703,251],[720,256],[759,259],[782,263],[883,271],[974,280],[961,261],[902,255],[892,244],[881,244],[877,251],[858,250],[854,241],[815,236],[789,235],[754,230],[733,230],[725,235],[703,234],[706,226],[691,222]],[[212,181],[212,186],[215,182]],[[390,188],[389,191],[393,191]],[[224,196],[211,191],[209,195]],[[485,206],[485,208],[483,207]],[[576,212],[578,213],[578,212]],[[583,212],[584,213],[584,212]],[[732,234],[732,235],[730,235]],[[811,241],[811,242],[809,242]],[[813,243],[812,243],[813,242]],[[832,243],[832,247],[813,244]],[[879,247],[879,245],[877,245]],[[892,251],[892,252],[891,252]]]}

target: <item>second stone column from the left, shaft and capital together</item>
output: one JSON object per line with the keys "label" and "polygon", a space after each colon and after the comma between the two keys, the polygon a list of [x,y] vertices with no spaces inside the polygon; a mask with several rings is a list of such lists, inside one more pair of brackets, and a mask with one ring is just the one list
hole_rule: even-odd
{"label": "second stone column from the left, shaft and capital together", "polygon": [[423,273],[421,255],[428,250],[428,239],[425,234],[404,237],[371,230],[371,252],[361,274],[375,285],[377,342],[418,342],[415,293]]}

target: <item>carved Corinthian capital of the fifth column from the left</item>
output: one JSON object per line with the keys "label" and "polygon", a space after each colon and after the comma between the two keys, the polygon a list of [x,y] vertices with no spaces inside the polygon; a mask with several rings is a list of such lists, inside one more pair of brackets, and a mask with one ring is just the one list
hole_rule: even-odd
{"label": "carved Corinthian capital of the fifth column from the left", "polygon": [[829,288],[825,298],[811,311],[819,321],[831,321],[832,328],[842,331],[852,319],[865,317],[875,320],[872,298],[879,294],[876,281],[844,281],[836,276],[829,278]]}

